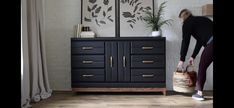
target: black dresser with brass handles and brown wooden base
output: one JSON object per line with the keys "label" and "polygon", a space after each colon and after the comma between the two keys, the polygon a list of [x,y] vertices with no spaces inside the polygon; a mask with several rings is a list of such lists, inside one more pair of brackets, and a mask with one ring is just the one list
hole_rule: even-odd
{"label": "black dresser with brass handles and brown wooden base", "polygon": [[163,92],[165,37],[72,38],[74,92]]}

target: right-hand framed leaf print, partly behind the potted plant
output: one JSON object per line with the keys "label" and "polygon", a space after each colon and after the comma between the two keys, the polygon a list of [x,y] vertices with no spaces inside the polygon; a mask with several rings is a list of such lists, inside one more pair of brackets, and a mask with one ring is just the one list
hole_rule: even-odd
{"label": "right-hand framed leaf print, partly behind the potted plant", "polygon": [[120,0],[120,37],[151,34],[151,29],[143,21],[145,11],[154,11],[154,0]]}

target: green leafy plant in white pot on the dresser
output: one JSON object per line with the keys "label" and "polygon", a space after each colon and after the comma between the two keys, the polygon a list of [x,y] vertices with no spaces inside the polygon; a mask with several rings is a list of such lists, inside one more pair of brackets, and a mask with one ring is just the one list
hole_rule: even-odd
{"label": "green leafy plant in white pot on the dresser", "polygon": [[157,11],[157,14],[154,14],[151,11],[145,11],[146,16],[143,17],[143,21],[147,23],[147,27],[151,27],[152,29],[152,36],[160,36],[161,27],[166,24],[170,25],[171,19],[164,20],[163,15],[163,9],[165,8],[166,2],[163,2],[159,6],[159,10]]}

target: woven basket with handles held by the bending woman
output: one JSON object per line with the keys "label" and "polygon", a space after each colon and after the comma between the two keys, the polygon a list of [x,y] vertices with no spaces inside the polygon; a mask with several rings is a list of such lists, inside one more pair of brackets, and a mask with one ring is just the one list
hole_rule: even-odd
{"label": "woven basket with handles held by the bending woman", "polygon": [[[192,71],[188,71],[188,67],[193,67]],[[173,90],[182,93],[191,93],[195,90],[197,73],[194,71],[193,65],[188,65],[185,71],[173,73]]]}

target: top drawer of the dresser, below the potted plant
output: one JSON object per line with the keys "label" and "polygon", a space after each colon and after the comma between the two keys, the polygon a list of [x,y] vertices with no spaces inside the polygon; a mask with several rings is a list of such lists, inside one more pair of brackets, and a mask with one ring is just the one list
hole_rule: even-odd
{"label": "top drawer of the dresser, below the potted plant", "polygon": [[134,41],[131,42],[131,54],[162,54],[164,47],[164,41]]}

